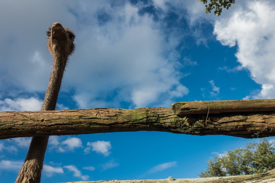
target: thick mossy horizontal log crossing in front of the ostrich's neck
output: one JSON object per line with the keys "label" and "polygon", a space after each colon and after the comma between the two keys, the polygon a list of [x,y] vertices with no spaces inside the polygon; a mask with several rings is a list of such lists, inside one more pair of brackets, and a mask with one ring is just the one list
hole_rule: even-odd
{"label": "thick mossy horizontal log crossing in front of the ostrich's neck", "polygon": [[95,108],[0,112],[0,139],[105,132],[162,131],[244,138],[275,136],[275,113],[221,113],[177,116],[172,108]]}

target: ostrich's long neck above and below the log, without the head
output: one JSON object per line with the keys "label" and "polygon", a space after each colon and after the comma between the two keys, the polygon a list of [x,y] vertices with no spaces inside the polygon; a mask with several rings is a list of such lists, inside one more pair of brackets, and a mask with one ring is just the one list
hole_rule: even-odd
{"label": "ostrich's long neck above and below the log, without the head", "polygon": [[[62,53],[62,52],[58,52]],[[58,99],[58,93],[61,86],[63,73],[66,67],[68,56],[55,56],[53,54],[53,66],[50,74],[49,84],[47,87],[44,102],[41,110],[54,110]],[[65,55],[65,54],[63,54]],[[49,136],[33,137],[25,163],[20,169],[15,183],[39,183],[43,160],[48,144]]]}

